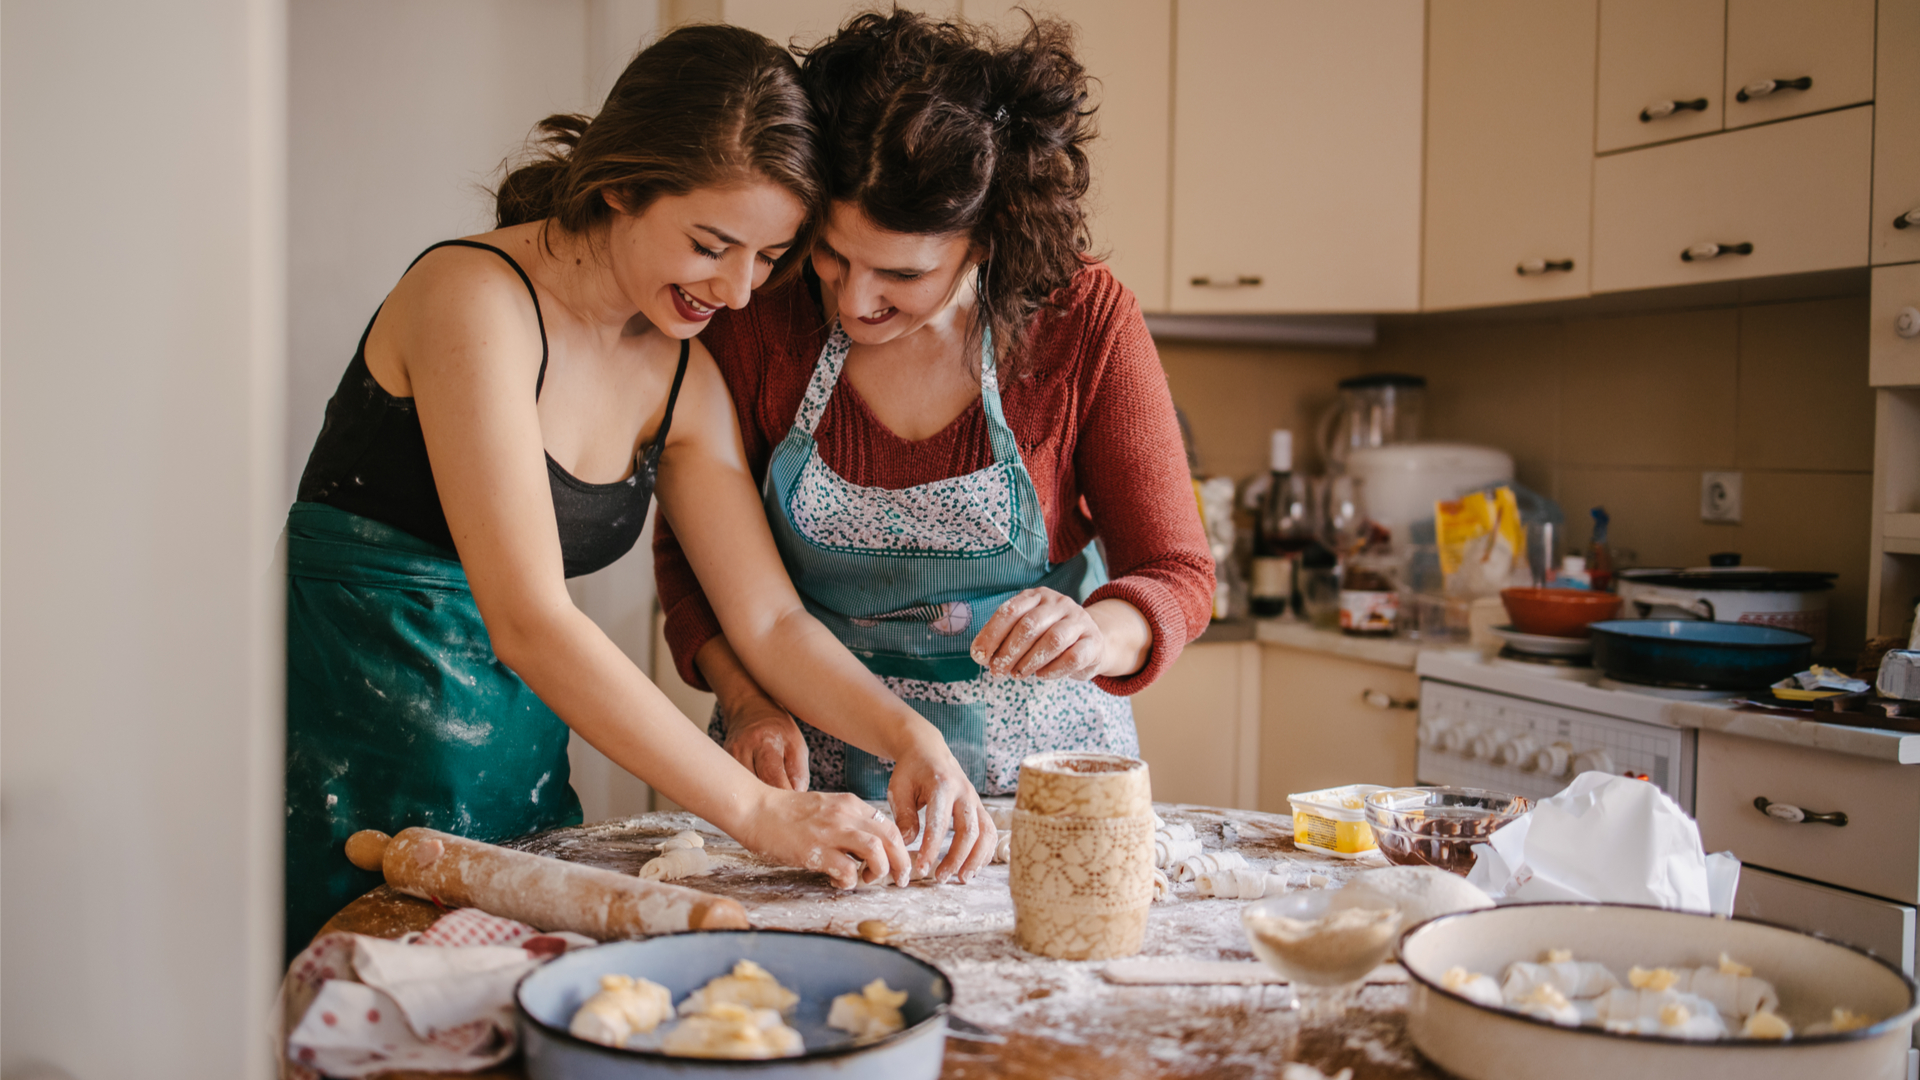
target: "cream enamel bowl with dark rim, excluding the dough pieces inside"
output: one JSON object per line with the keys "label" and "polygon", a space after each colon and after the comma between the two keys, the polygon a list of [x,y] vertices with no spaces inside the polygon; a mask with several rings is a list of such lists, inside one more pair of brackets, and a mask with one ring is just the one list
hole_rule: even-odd
{"label": "cream enamel bowl with dark rim, excluding the dough pieces inside", "polygon": [[[1440,988],[1452,967],[1498,980],[1509,963],[1538,961],[1548,949],[1571,949],[1615,974],[1634,965],[1713,967],[1726,953],[1774,984],[1780,1015],[1795,1032],[1832,1017],[1836,1005],[1878,1022],[1789,1042],[1688,1042],[1563,1028]],[[1402,934],[1400,963],[1413,976],[1407,1036],[1465,1080],[1905,1080],[1920,1019],[1914,980],[1880,957],[1770,922],[1659,907],[1517,903],[1442,915]]]}

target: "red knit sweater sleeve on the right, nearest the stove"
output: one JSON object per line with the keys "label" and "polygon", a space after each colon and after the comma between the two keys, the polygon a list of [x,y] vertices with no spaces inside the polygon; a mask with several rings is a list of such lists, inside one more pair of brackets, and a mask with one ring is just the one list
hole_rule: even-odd
{"label": "red knit sweater sleeve on the right, nearest the stove", "polygon": [[1098,352],[1085,365],[1073,469],[1114,575],[1087,603],[1125,600],[1154,632],[1140,671],[1094,682],[1110,694],[1137,694],[1206,630],[1213,611],[1213,553],[1200,527],[1160,352],[1133,292],[1114,288],[1117,300],[1096,338]]}

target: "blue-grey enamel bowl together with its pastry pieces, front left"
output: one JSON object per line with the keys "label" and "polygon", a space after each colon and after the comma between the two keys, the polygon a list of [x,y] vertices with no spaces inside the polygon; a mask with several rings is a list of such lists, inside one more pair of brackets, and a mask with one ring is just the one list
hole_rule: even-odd
{"label": "blue-grey enamel bowl together with its pastry pieces, front left", "polygon": [[515,1001],[530,1080],[933,1080],[952,984],[856,938],[695,930],[576,949]]}

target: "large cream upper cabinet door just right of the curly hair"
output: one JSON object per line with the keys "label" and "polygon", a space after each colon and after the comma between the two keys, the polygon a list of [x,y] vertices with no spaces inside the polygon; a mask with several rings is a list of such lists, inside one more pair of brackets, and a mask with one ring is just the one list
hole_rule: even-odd
{"label": "large cream upper cabinet door just right of the curly hair", "polygon": [[1171,309],[1417,309],[1425,0],[1175,21]]}

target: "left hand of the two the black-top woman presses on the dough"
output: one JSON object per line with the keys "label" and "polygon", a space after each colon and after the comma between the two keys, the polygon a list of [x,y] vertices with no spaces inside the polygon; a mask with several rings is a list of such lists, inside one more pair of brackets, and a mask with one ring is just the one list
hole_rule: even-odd
{"label": "left hand of the two the black-top woman presses on the dough", "polygon": [[753,851],[804,871],[820,871],[837,888],[893,880],[910,872],[906,842],[885,813],[858,796],[762,788],[760,805],[739,840]]}

